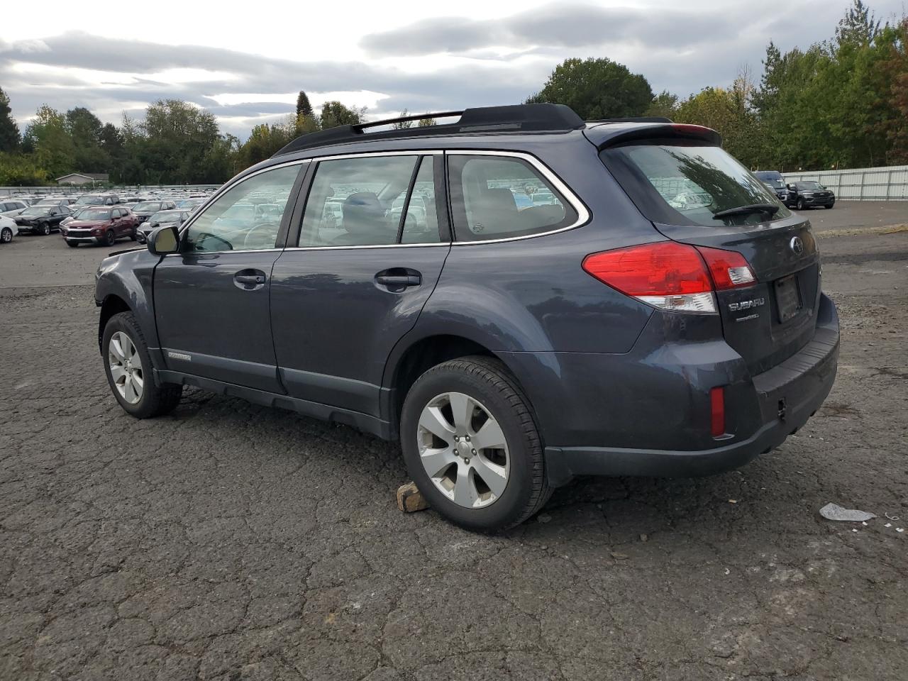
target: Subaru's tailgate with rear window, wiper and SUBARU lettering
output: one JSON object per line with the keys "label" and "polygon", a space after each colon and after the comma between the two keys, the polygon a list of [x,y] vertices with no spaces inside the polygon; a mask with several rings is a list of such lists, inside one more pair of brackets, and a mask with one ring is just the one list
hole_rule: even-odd
{"label": "Subaru's tailgate with rear window, wiper and SUBARU lettering", "polygon": [[[607,148],[603,161],[656,229],[676,242],[738,252],[756,281],[718,291],[725,341],[752,374],[795,354],[814,336],[819,253],[810,222],[719,146],[665,137]],[[765,204],[768,212],[717,212]]]}

